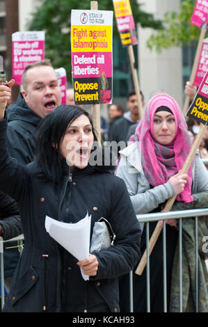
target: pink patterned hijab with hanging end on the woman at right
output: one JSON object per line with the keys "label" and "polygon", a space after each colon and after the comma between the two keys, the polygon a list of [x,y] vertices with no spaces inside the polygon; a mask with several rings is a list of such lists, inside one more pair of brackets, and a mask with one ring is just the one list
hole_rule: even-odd
{"label": "pink patterned hijab with hanging end on the woman at right", "polygon": [[[175,138],[170,145],[161,145],[154,138],[154,113],[160,106],[167,106],[175,118]],[[152,186],[168,182],[184,166],[191,149],[191,140],[186,120],[179,105],[170,95],[155,95],[150,99],[141,122],[136,127],[130,141],[141,141],[141,161],[145,177]],[[192,170],[189,168],[184,191],[177,196],[178,201],[191,202]]]}

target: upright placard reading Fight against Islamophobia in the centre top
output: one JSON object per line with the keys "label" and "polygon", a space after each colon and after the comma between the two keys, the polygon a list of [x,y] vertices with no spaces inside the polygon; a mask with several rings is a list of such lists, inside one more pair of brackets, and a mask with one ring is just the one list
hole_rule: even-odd
{"label": "upright placard reading Fight against Islamophobia in the centre top", "polygon": [[75,104],[109,104],[113,90],[113,12],[72,10],[72,80]]}

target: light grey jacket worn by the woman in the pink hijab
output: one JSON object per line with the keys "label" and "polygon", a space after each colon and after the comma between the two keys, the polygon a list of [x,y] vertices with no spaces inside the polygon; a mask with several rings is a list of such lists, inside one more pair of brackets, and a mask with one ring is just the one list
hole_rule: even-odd
{"label": "light grey jacket worn by the woman in the pink hijab", "polygon": [[[141,166],[139,142],[131,143],[131,145],[120,151],[120,154],[120,163],[116,175],[125,181],[136,214],[151,212],[168,198],[175,196],[174,188],[170,182],[150,189],[150,184],[147,182]],[[208,170],[199,155],[196,154],[193,167],[192,193],[207,189]]]}

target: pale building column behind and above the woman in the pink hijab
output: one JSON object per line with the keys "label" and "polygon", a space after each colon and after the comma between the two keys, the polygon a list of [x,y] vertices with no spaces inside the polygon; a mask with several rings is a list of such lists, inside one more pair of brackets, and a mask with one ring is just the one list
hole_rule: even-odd
{"label": "pale building column behind and above the woman in the pink hijab", "polygon": [[[180,0],[145,0],[143,10],[152,13],[155,19],[163,19],[167,11],[179,11]],[[182,47],[163,49],[161,54],[150,51],[145,46],[152,29],[138,26],[138,67],[141,90],[145,102],[157,89],[164,89],[182,106],[184,100]]]}

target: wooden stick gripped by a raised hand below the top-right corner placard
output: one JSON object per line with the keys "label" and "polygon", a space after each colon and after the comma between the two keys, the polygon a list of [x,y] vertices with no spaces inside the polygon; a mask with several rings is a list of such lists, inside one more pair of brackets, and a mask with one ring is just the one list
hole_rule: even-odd
{"label": "wooden stick gripped by a raised hand below the top-right corner placard", "polygon": [[[195,73],[197,71],[198,61],[200,58],[200,53],[201,53],[201,49],[202,49],[203,40],[205,39],[206,31],[207,31],[207,23],[202,25],[201,32],[200,32],[200,38],[198,40],[198,46],[195,51],[195,58],[193,61],[193,67],[191,70],[191,77],[190,77],[191,86],[193,86],[193,82],[195,79]],[[184,108],[183,108],[184,116],[186,115],[186,111],[189,108],[189,102],[190,102],[190,97],[189,97],[189,95],[186,95],[185,102],[184,102]]]}

